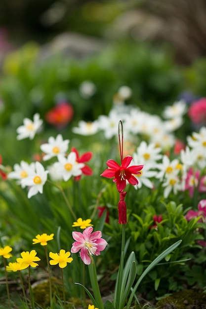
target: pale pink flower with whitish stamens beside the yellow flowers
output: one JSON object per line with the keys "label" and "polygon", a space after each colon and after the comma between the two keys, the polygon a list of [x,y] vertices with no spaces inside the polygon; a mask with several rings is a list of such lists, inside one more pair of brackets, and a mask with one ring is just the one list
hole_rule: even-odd
{"label": "pale pink flower with whitish stamens beside the yellow flowers", "polygon": [[72,244],[72,253],[80,251],[80,257],[84,264],[89,265],[91,263],[90,256],[100,255],[100,251],[104,250],[107,242],[102,237],[102,232],[93,232],[92,227],[86,228],[81,232],[72,232],[73,238],[76,240]]}

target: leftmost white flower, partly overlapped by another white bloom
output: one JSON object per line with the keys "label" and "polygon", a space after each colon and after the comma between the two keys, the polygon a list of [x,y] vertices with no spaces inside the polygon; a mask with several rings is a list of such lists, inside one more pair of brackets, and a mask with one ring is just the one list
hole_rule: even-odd
{"label": "leftmost white flower, partly overlapped by another white bloom", "polygon": [[35,171],[35,163],[33,162],[29,164],[22,160],[20,164],[14,164],[14,171],[10,172],[7,177],[10,179],[16,179],[17,184],[20,184],[22,188],[25,188],[26,185],[22,184],[22,180],[29,177],[30,170]]}

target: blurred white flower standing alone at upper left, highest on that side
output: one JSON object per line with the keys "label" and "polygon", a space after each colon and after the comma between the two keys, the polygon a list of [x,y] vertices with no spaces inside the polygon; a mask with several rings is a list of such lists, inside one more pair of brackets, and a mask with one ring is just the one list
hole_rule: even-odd
{"label": "blurred white flower standing alone at upper left, highest on that side", "polygon": [[24,138],[29,137],[30,140],[32,140],[37,133],[37,131],[40,129],[43,120],[40,119],[39,114],[35,114],[33,121],[29,118],[24,118],[23,125],[19,126],[16,129],[17,134],[17,140],[22,140]]}

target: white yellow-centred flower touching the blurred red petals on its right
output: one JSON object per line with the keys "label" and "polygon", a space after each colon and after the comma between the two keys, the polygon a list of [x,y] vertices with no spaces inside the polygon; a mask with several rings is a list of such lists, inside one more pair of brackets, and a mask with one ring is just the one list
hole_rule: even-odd
{"label": "white yellow-centred flower touching the blurred red petals on its right", "polygon": [[58,155],[58,162],[54,163],[54,167],[64,181],[69,180],[72,176],[76,177],[82,175],[82,167],[84,167],[84,164],[78,163],[76,159],[77,156],[75,152],[71,152],[68,157]]}

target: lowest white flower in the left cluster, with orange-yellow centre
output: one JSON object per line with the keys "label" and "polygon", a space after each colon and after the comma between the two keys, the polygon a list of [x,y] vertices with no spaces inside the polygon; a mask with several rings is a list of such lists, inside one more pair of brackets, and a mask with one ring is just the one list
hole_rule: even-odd
{"label": "lowest white flower in the left cluster, with orange-yellow centre", "polygon": [[36,195],[38,192],[43,193],[43,185],[47,180],[47,173],[48,171],[44,170],[40,162],[35,162],[35,170],[29,169],[29,176],[21,181],[24,186],[30,187],[28,198]]}

